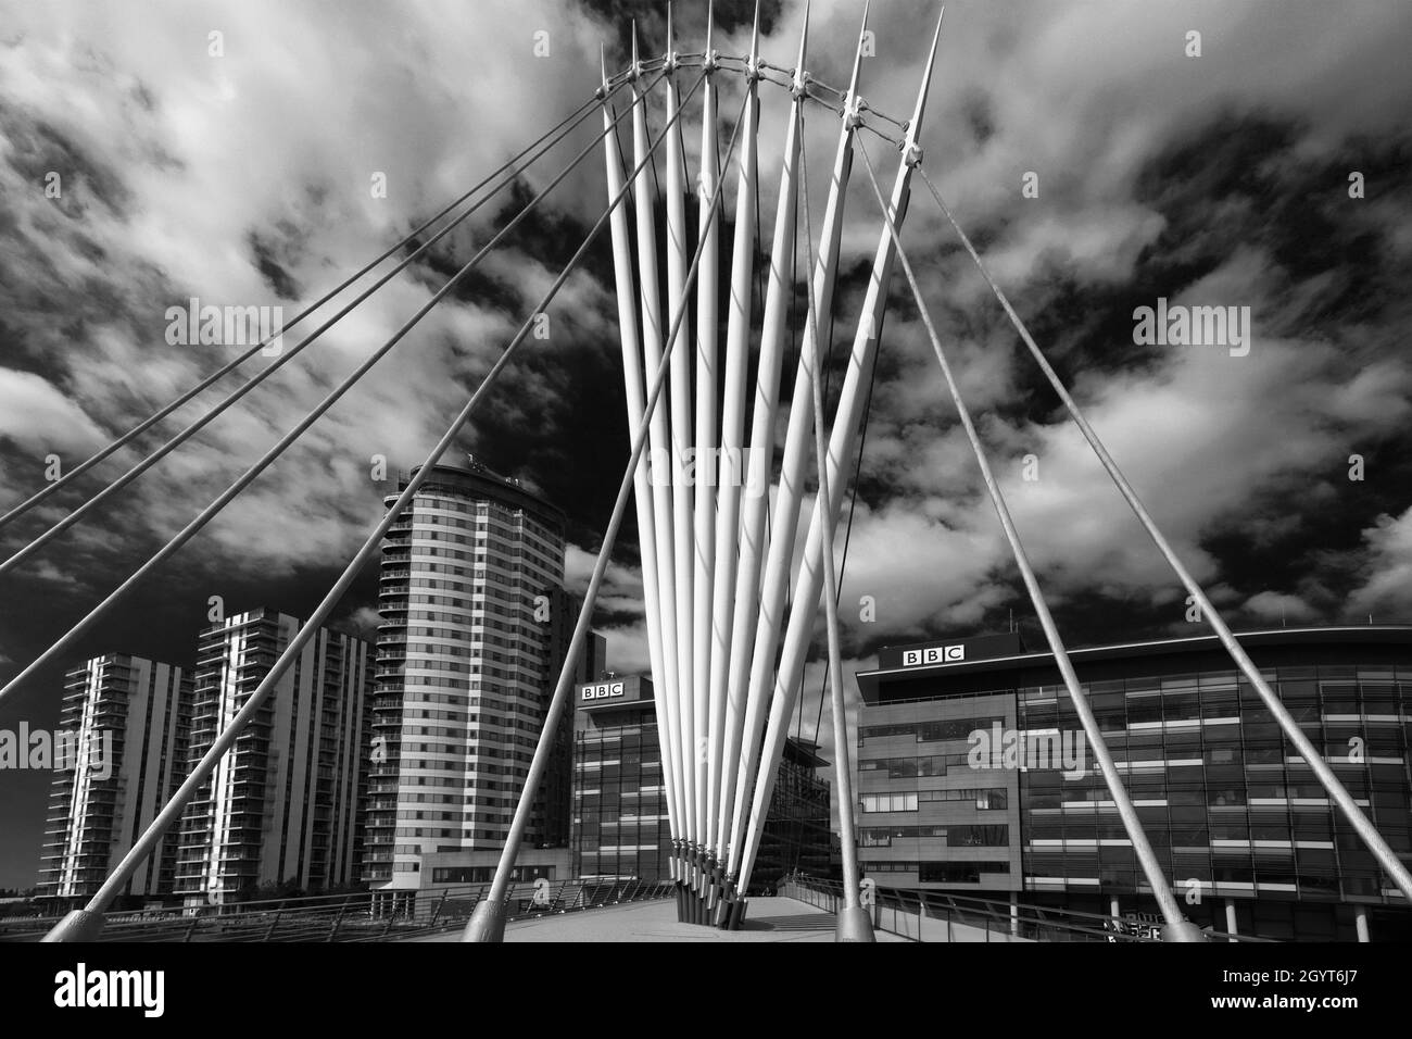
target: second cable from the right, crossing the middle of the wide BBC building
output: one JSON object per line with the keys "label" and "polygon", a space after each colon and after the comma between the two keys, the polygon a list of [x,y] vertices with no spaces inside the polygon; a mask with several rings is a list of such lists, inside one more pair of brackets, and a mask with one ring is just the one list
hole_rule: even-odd
{"label": "second cable from the right, crossing the middle of the wide BBC building", "polygon": [[[1019,574],[1025,582],[1025,589],[1029,592],[1029,601],[1035,606],[1035,615],[1039,619],[1039,626],[1045,630],[1045,639],[1049,642],[1055,664],[1063,676],[1065,688],[1069,691],[1069,700],[1073,703],[1075,711],[1079,714],[1079,722],[1083,725],[1083,731],[1093,746],[1094,761],[1099,765],[1099,770],[1103,773],[1103,780],[1108,787],[1108,793],[1113,796],[1114,806],[1118,810],[1118,817],[1123,820],[1123,828],[1127,833],[1128,840],[1132,843],[1132,851],[1137,855],[1138,865],[1142,868],[1142,875],[1147,876],[1148,885],[1152,888],[1152,895],[1156,898],[1156,903],[1162,910],[1162,919],[1173,927],[1173,937],[1178,940],[1200,941],[1200,932],[1192,927],[1192,924],[1186,920],[1176,903],[1176,898],[1172,895],[1172,886],[1166,882],[1162,865],[1156,859],[1156,852],[1152,851],[1152,844],[1148,841],[1147,833],[1142,830],[1142,821],[1138,818],[1137,809],[1132,806],[1132,800],[1128,797],[1128,792],[1123,786],[1123,779],[1118,776],[1117,765],[1114,765],[1113,755],[1108,752],[1107,741],[1104,741],[1103,734],[1099,729],[1099,721],[1093,715],[1089,698],[1079,686],[1079,676],[1075,673],[1073,663],[1069,660],[1069,652],[1065,649],[1063,639],[1059,636],[1059,629],[1053,622],[1053,616],[1049,614],[1049,605],[1045,602],[1034,567],[1029,565],[1029,556],[1025,553],[1025,547],[1019,540],[1019,532],[1015,529],[1015,523],[1010,516],[1010,509],[1005,506],[1005,498],[1000,491],[1000,485],[995,482],[995,475],[991,472],[990,462],[986,458],[986,450],[980,442],[980,437],[976,434],[974,423],[971,423],[970,411],[967,410],[966,401],[962,399],[960,389],[956,386],[956,380],[952,376],[952,368],[946,360],[946,352],[942,349],[942,341],[936,335],[936,327],[932,324],[931,311],[922,300],[922,287],[918,284],[916,273],[912,270],[912,263],[908,260],[907,252],[902,249],[902,236],[898,232],[897,225],[892,222],[891,215],[887,212],[882,188],[878,185],[877,177],[873,172],[873,161],[868,158],[868,148],[863,141],[858,141],[858,154],[863,157],[863,164],[867,168],[868,181],[873,184],[873,189],[877,194],[878,205],[882,208],[882,219],[887,222],[888,230],[892,235],[892,242],[897,247],[897,257],[901,262],[902,271],[907,274],[907,281],[912,288],[912,295],[916,300],[916,308],[922,317],[922,324],[926,327],[926,335],[932,341],[932,349],[936,352],[936,360],[942,368],[942,376],[946,379],[946,389],[950,392],[952,401],[956,404],[956,411],[960,414],[962,425],[966,428],[966,438],[970,441],[971,452],[976,455],[981,479],[986,481],[986,491],[990,495],[991,505],[995,506],[995,513],[1000,516],[1000,524],[1005,530],[1005,541],[1010,544],[1010,551],[1015,557],[1015,565],[1019,567]],[[1196,930],[1195,934],[1192,933],[1193,930]]]}

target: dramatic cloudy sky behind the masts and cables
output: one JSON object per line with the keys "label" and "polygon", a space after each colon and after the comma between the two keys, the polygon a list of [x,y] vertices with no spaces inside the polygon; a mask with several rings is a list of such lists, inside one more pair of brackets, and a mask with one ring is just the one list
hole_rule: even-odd
{"label": "dramatic cloudy sky behind the masts and cables", "polygon": [[[705,10],[685,7],[682,48],[695,49]],[[717,3],[723,52],[746,49],[747,8]],[[659,51],[664,10],[645,0],[0,3],[0,510],[44,485],[49,455],[72,468],[232,356],[226,346],[169,345],[169,307],[192,297],[281,305],[288,319],[583,103],[600,44],[610,68],[624,64],[631,18],[644,54]],[[936,10],[874,3],[875,54],[863,66],[874,109],[909,113]],[[819,79],[846,83],[860,14],[854,0],[813,4],[809,65]],[[764,4],[762,51],[774,64],[794,64],[801,21],[799,3]],[[947,6],[926,170],[1237,629],[1412,615],[1409,44],[1412,8],[1396,0]],[[724,144],[738,86],[724,83],[723,95]],[[762,100],[768,249],[788,99],[767,85]],[[695,164],[695,109],[689,119]],[[836,122],[822,109],[808,119],[818,221]],[[513,196],[481,209],[89,523],[0,577],[0,680],[385,342],[596,129],[594,116]],[[894,154],[864,140],[887,182]],[[861,165],[854,172],[834,389],[880,230]],[[1028,174],[1035,198],[1022,192]],[[1350,191],[1354,174],[1361,192]],[[62,663],[103,652],[189,663],[212,595],[233,611],[308,614],[377,520],[388,483],[371,479],[374,455],[394,476],[422,461],[604,201],[594,151]],[[914,194],[905,240],[1070,645],[1189,630],[1185,592],[925,192]],[[1135,342],[1134,310],[1159,297],[1248,307],[1250,352]],[[606,239],[549,319],[549,338],[527,344],[462,447],[568,510],[568,568],[582,587],[627,452]],[[313,327],[292,329],[287,348]],[[226,380],[162,430],[236,385]],[[781,435],[786,416],[788,401]],[[0,529],[3,554],[141,454],[119,454]],[[1022,478],[1027,455],[1035,481]],[[1351,455],[1363,479],[1350,479]],[[1034,632],[901,274],[858,474],[842,614],[850,671],[870,666],[878,645],[1004,629],[1011,611]],[[637,578],[630,523],[599,616],[618,670],[645,662]],[[367,623],[374,588],[370,571],[340,619]],[[863,595],[877,601],[871,623],[858,616]],[[810,664],[805,735],[819,670]],[[61,671],[38,674],[0,707],[0,728],[52,725]],[[34,881],[48,779],[0,776],[0,886]]]}

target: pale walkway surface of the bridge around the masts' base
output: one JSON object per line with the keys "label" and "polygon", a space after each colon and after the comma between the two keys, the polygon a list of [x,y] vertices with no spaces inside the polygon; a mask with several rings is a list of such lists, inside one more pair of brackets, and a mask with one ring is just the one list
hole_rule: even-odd
{"label": "pale walkway surface of the bridge around the masts' base", "polygon": [[[582,913],[514,920],[505,941],[833,941],[833,913],[789,898],[754,898],[743,930],[724,932],[676,922],[672,899],[637,902]],[[878,941],[904,941],[878,932]],[[459,941],[460,932],[411,941]]]}

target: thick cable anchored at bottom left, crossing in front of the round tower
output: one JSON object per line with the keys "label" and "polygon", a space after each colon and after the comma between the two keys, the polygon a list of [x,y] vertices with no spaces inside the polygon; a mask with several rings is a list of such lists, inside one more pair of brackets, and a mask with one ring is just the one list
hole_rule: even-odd
{"label": "thick cable anchored at bottom left, crossing in front of the round tower", "polygon": [[[702,76],[702,79],[705,79],[705,75]],[[700,85],[702,79],[696,81],[696,86]],[[693,86],[692,90],[695,90],[696,86]],[[666,139],[666,131],[664,129],[662,134],[658,136],[657,141],[652,143],[652,150],[655,151],[657,146],[661,144],[665,139]],[[641,171],[641,168],[642,164],[638,165],[638,168],[634,171],[634,175],[638,171]],[[260,681],[256,690],[250,694],[250,698],[241,705],[241,708],[226,725],[226,728],[220,731],[220,734],[212,742],[210,748],[202,756],[201,762],[196,763],[196,768],[192,769],[191,775],[186,776],[185,782],[182,782],[176,793],[172,794],[172,797],[167,802],[162,810],[157,814],[157,818],[154,818],[151,824],[148,824],[147,830],[143,831],[143,835],[138,837],[137,841],[134,841],[133,847],[123,857],[121,862],[119,862],[117,867],[113,869],[113,872],[109,874],[107,879],[103,882],[103,886],[99,888],[99,891],[93,895],[89,903],[85,906],[85,909],[75,910],[68,917],[65,917],[65,920],[61,922],[45,937],[47,941],[61,941],[71,939],[82,940],[83,937],[92,936],[92,930],[100,924],[102,912],[107,908],[107,905],[113,900],[113,898],[116,898],[121,892],[123,886],[127,884],[131,874],[137,869],[137,867],[143,862],[143,859],[152,852],[157,843],[162,838],[162,835],[172,826],[172,823],[175,823],[179,818],[188,802],[196,794],[196,790],[201,787],[201,785],[206,782],[206,779],[215,770],[216,763],[234,745],[241,731],[246,728],[246,725],[249,725],[251,718],[254,718],[256,712],[270,697],[275,684],[278,684],[278,681],[284,677],[285,671],[292,666],[295,657],[304,652],[304,647],[319,632],[321,626],[328,619],[329,614],[333,612],[333,608],[339,604],[339,601],[343,598],[343,594],[353,584],[353,580],[357,577],[359,571],[378,550],[378,546],[383,537],[387,534],[388,529],[398,520],[398,517],[407,509],[408,503],[411,503],[412,498],[417,496],[422,485],[431,478],[433,466],[438,462],[438,459],[441,459],[442,455],[445,455],[446,451],[450,448],[452,442],[456,440],[460,430],[470,420],[470,416],[474,411],[476,406],[481,401],[481,399],[494,385],[496,379],[505,369],[505,366],[508,365],[510,359],[514,356],[520,345],[524,344],[524,341],[528,338],[531,329],[535,325],[535,315],[542,314],[545,311],[545,308],[549,305],[549,303],[554,300],[558,291],[569,280],[569,276],[573,273],[573,270],[578,267],[582,259],[587,254],[589,247],[593,245],[599,233],[607,225],[609,218],[613,213],[613,209],[623,201],[623,198],[627,195],[627,191],[628,191],[627,187],[624,187],[623,191],[620,191],[617,196],[609,204],[603,215],[599,216],[597,222],[593,225],[587,236],[583,239],[583,243],[565,264],[563,270],[555,278],[554,284],[549,286],[549,288],[545,291],[544,297],[539,300],[539,304],[531,311],[530,318],[520,327],[520,331],[510,341],[510,344],[501,352],[500,358],[490,368],[490,370],[484,375],[484,377],[480,382],[480,386],[476,387],[476,392],[472,394],[470,400],[462,409],[460,414],[456,416],[455,421],[452,421],[452,424],[446,428],[446,433],[442,434],[442,438],[432,448],[431,454],[426,457],[426,461],[422,464],[421,468],[418,468],[418,471],[408,481],[407,488],[402,489],[401,495],[398,495],[397,500],[388,509],[387,515],[376,524],[373,533],[357,550],[353,560],[339,575],[337,581],[335,581],[333,587],[329,589],[328,595],[325,595],[323,601],[309,615],[308,621],[305,621],[304,626],[298,630],[298,633],[291,639],[289,645],[280,654],[280,659],[274,662],[270,671]],[[452,283],[448,283],[448,286],[449,284]],[[570,663],[572,663],[572,656],[570,656]]]}

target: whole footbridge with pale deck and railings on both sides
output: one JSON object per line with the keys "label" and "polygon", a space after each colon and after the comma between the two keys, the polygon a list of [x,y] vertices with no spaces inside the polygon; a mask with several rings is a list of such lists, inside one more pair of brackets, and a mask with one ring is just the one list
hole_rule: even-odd
{"label": "whole footbridge with pale deck and railings on both sides", "polygon": [[[106,915],[99,941],[329,943],[459,941],[489,884],[390,898],[359,892],[246,902],[201,912]],[[679,919],[681,892],[668,881],[521,884],[505,906],[507,941],[832,941],[843,903],[837,881],[782,878],[774,896],[747,903],[738,930]],[[939,891],[870,886],[863,898],[880,941],[1032,944],[1039,941],[1156,941],[1154,929],[1090,913],[971,898]],[[56,917],[10,920],[0,941],[38,941]],[[1207,933],[1209,939],[1252,941]]]}

